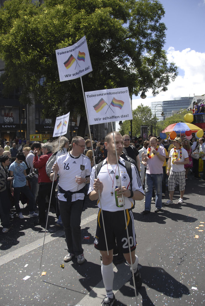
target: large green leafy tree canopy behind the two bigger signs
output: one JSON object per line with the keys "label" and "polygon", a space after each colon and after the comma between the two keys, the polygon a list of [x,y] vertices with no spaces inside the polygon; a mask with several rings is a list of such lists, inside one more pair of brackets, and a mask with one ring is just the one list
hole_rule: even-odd
{"label": "large green leafy tree canopy behind the two bigger signs", "polygon": [[5,1],[0,9],[0,58],[4,93],[19,87],[20,101],[43,103],[45,114],[85,114],[80,80],[60,82],[55,50],[86,35],[93,71],[84,91],[128,87],[130,96],[166,91],[177,76],[168,64],[166,26],[157,0]]}

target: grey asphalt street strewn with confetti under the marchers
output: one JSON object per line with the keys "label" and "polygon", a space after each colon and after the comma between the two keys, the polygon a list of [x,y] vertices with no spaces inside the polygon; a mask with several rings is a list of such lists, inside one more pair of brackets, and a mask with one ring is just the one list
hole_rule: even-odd
{"label": "grey asphalt street strewn with confetti under the marchers", "polygon": [[[152,202],[151,213],[142,215],[144,200],[136,202],[136,254],[143,284],[135,294],[129,267],[126,263],[116,264],[114,256],[116,305],[205,304],[205,182],[190,174],[186,184],[184,203],[177,204],[180,196],[176,190],[173,204],[163,206],[159,213],[154,213]],[[168,192],[162,202],[167,199]],[[14,217],[8,233],[1,233],[0,228],[0,305],[99,306],[105,289],[100,255],[94,248],[97,213],[96,202],[86,198],[81,217],[86,258],[82,265],[76,258],[64,263],[65,235],[55,225],[57,219],[52,211],[45,241],[45,226],[36,224],[36,218],[29,218],[27,208],[23,209],[25,219]]]}

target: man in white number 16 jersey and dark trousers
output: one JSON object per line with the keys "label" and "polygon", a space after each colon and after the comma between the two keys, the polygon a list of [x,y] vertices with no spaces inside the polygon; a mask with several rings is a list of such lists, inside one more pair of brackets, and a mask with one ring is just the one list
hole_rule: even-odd
{"label": "man in white number 16 jersey and dark trousers", "polygon": [[71,151],[58,156],[52,167],[50,180],[56,180],[57,174],[59,175],[58,203],[68,246],[68,254],[64,261],[69,262],[76,256],[78,263],[84,263],[80,221],[84,187],[90,183],[91,165],[89,157],[83,154],[85,140],[82,137],[73,137],[71,146]]}

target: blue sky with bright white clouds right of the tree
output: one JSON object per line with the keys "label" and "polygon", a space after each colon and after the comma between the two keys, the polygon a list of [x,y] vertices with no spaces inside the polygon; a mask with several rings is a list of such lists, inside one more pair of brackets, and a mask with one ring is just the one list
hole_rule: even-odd
{"label": "blue sky with bright white clouds right of the tree", "polygon": [[[204,16],[205,0],[161,0],[165,9],[166,50],[169,62],[178,67],[178,76],[168,86],[168,90],[147,98],[140,94],[132,97],[132,109],[141,103],[151,106],[151,102],[173,100],[177,97],[188,97],[205,94],[205,39]],[[116,130],[119,127],[116,122]]]}

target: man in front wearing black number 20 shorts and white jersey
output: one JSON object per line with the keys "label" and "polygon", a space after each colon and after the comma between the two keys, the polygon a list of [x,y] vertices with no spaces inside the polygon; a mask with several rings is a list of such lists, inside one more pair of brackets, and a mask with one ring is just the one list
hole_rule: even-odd
{"label": "man in front wearing black number 20 shorts and white jersey", "polygon": [[[130,179],[125,168],[125,160],[120,157],[123,150],[123,138],[121,134],[119,132],[114,132],[113,136],[113,133],[109,133],[105,137],[105,147],[108,152],[107,159],[104,159],[102,163],[102,167],[98,174],[98,179],[95,178],[95,167],[93,167],[88,194],[90,200],[98,200],[99,207],[97,229],[95,234],[95,248],[98,249],[102,255],[101,271],[106,289],[106,297],[103,299],[101,306],[112,306],[115,303],[115,297],[113,294],[114,272],[112,261],[113,248],[116,242],[119,252],[123,253],[129,266],[133,267],[136,288],[139,289],[142,285],[140,272],[137,267],[139,259],[135,255],[136,234],[134,231],[134,218],[131,207],[134,203],[133,200],[143,200],[144,192],[141,185],[140,176],[133,164],[131,165],[132,189],[130,187]],[[121,185],[123,186],[116,188],[116,176],[119,176],[119,171],[122,182]],[[124,207],[117,207],[116,205],[115,191],[117,192],[118,197],[122,197],[122,195],[124,196],[126,220]],[[100,207],[102,207],[102,211]],[[102,214],[106,237],[103,229]],[[130,250],[127,230],[129,233]],[[129,252],[131,252],[131,254]],[[132,258],[132,262],[130,257]]]}

